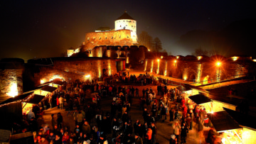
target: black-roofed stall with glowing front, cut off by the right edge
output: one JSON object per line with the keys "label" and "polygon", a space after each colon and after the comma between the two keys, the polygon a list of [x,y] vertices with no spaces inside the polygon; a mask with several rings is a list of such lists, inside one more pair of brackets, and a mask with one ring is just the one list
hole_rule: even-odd
{"label": "black-roofed stall with glowing front, cut off by the right edge", "polygon": [[256,118],[245,113],[224,108],[227,113],[242,127],[242,143],[256,143]]}

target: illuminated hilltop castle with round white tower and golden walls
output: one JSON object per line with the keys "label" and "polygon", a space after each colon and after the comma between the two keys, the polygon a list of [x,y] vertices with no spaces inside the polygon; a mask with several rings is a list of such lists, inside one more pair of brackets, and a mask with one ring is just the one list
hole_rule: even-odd
{"label": "illuminated hilltop castle with round white tower and golden walls", "polygon": [[87,51],[89,57],[102,57],[100,53],[104,52],[98,52],[97,50],[97,54],[92,53],[95,51],[95,48],[102,45],[130,47],[131,45],[137,44],[137,21],[125,11],[122,16],[114,21],[114,30],[102,27],[98,28],[95,32],[86,33],[85,42],[82,43],[82,47],[75,50],[68,50],[68,57],[80,51]]}

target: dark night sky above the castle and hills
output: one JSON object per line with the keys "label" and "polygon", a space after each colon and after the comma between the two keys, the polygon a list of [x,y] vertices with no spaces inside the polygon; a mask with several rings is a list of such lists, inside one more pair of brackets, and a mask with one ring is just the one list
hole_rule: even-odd
{"label": "dark night sky above the castle and hills", "polygon": [[85,33],[101,26],[114,28],[114,20],[128,11],[137,20],[137,34],[159,37],[172,55],[191,55],[174,43],[188,31],[218,31],[233,21],[255,18],[255,1],[235,0],[1,0],[1,54],[24,60],[60,56],[77,48]]}

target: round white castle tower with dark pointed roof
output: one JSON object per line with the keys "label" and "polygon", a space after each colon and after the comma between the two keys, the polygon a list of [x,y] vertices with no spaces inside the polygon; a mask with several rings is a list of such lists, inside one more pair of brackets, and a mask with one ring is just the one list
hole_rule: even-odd
{"label": "round white castle tower with dark pointed roof", "polygon": [[137,43],[136,21],[128,15],[127,11],[114,21],[114,31],[117,30],[130,30],[133,43]]}

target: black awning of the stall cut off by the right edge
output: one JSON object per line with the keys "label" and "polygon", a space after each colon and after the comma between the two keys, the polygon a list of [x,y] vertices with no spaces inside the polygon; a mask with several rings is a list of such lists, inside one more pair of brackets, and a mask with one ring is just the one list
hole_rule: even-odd
{"label": "black awning of the stall cut off by the right edge", "polygon": [[248,128],[253,128],[256,130],[256,118],[253,116],[249,116],[245,113],[240,113],[238,111],[233,111],[231,109],[223,108],[227,113],[235,119],[241,126],[246,126]]}

